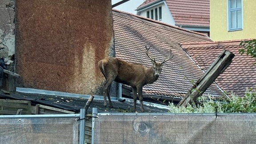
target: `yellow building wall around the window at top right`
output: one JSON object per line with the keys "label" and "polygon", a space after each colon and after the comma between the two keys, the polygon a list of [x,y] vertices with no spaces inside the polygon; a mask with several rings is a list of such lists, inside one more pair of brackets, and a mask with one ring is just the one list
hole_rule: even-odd
{"label": "yellow building wall around the window at top right", "polygon": [[228,32],[228,0],[210,0],[210,38],[214,41],[256,38],[256,1],[242,0],[243,29]]}

